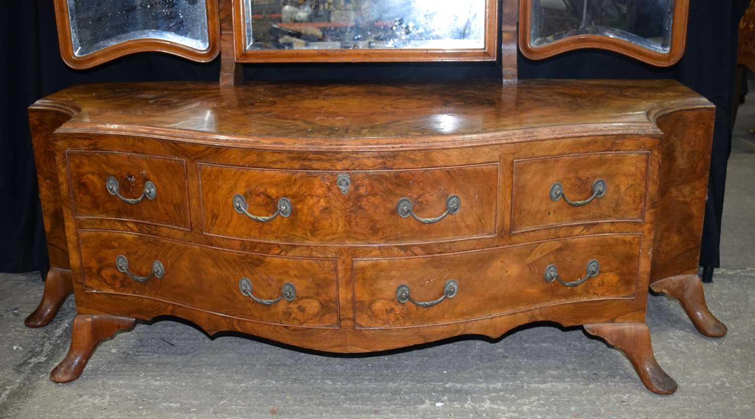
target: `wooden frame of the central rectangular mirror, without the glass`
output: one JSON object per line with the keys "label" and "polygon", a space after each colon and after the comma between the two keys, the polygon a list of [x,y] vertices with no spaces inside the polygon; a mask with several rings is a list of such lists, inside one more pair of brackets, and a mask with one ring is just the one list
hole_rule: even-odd
{"label": "wooden frame of the central rectangular mirror, without the glass", "polygon": [[[516,2],[516,0],[504,0]],[[233,0],[233,38],[237,63],[379,63],[415,61],[495,61],[498,58],[498,3],[485,0],[485,46],[474,49],[269,49],[245,50],[242,0]]]}

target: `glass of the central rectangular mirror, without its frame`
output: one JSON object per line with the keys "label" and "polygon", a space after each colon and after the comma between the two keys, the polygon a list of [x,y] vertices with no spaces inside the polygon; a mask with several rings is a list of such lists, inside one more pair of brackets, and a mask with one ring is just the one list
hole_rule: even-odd
{"label": "glass of the central rectangular mirror, without its frame", "polygon": [[486,0],[243,0],[247,50],[485,47]]}

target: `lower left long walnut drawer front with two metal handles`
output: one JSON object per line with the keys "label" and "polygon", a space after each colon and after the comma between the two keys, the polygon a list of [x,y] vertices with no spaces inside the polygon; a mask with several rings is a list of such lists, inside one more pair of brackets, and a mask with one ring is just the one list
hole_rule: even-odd
{"label": "lower left long walnut drawer front with two metal handles", "polygon": [[338,327],[333,259],[248,254],[93,230],[80,230],[79,243],[86,291],[276,325]]}

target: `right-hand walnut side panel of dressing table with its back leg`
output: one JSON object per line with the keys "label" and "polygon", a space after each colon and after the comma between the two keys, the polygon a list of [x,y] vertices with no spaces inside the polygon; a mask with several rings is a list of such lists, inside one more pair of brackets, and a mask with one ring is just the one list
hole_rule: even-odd
{"label": "right-hand walnut side panel of dressing table with its back leg", "polygon": [[697,276],[714,120],[713,109],[658,116],[658,127],[664,131],[663,182],[650,286],[680,300],[702,334],[722,337],[726,325],[708,310]]}

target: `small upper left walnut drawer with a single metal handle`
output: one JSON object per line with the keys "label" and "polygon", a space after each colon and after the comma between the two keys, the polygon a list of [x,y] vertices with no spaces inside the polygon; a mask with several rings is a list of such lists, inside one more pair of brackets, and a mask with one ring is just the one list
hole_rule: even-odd
{"label": "small upper left walnut drawer with a single metal handle", "polygon": [[142,154],[66,152],[76,217],[189,229],[186,162]]}

